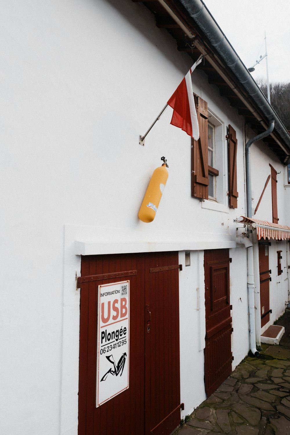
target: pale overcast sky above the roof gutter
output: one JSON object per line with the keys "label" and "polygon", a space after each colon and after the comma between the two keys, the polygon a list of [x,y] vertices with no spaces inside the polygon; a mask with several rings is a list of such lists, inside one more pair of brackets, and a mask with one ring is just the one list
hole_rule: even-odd
{"label": "pale overcast sky above the roof gutter", "polygon": [[[270,82],[290,82],[289,0],[203,0],[247,68],[265,54],[267,37]],[[267,77],[266,58],[253,78]]]}

